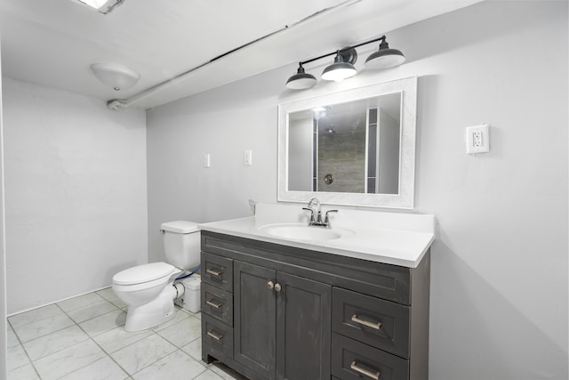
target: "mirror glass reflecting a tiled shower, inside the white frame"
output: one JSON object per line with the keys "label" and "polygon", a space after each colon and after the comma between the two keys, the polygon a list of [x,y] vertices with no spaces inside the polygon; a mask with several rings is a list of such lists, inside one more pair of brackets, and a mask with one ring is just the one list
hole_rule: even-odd
{"label": "mirror glass reflecting a tiled shower, inside the white frame", "polygon": [[399,193],[402,93],[289,114],[289,189]]}

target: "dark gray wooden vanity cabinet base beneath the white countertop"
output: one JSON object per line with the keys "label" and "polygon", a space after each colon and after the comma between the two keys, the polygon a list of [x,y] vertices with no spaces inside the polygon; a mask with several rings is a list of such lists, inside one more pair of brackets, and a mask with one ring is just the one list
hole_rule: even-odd
{"label": "dark gray wooden vanity cabinet base beneath the white countertop", "polygon": [[429,266],[202,230],[203,360],[251,379],[427,379]]}

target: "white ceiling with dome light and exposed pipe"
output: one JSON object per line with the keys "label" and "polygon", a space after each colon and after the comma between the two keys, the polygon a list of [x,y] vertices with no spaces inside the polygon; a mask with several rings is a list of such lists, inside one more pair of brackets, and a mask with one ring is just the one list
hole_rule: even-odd
{"label": "white ceiling with dome light and exposed pipe", "polygon": [[[390,30],[478,1],[124,0],[103,15],[77,0],[0,0],[2,70],[100,100],[128,100],[282,30],[132,102],[148,109],[372,37],[387,34],[390,42]],[[95,62],[134,69],[140,82],[116,92],[93,76]]]}

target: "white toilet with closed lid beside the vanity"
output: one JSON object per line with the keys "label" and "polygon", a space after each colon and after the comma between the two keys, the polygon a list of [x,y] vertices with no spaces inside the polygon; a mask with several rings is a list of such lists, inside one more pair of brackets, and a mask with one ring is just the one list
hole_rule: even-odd
{"label": "white toilet with closed lid beside the vanity", "polygon": [[128,305],[124,329],[129,332],[174,318],[173,300],[185,290],[174,280],[200,263],[200,233],[195,222],[164,222],[160,227],[168,263],[137,265],[113,276],[115,295]]}

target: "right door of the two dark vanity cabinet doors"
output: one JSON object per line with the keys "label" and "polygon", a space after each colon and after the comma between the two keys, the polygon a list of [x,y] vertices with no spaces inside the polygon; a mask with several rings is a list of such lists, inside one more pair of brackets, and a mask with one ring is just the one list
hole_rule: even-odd
{"label": "right door of the two dark vanity cabinet doors", "polygon": [[330,379],[332,287],[276,273],[276,378]]}

